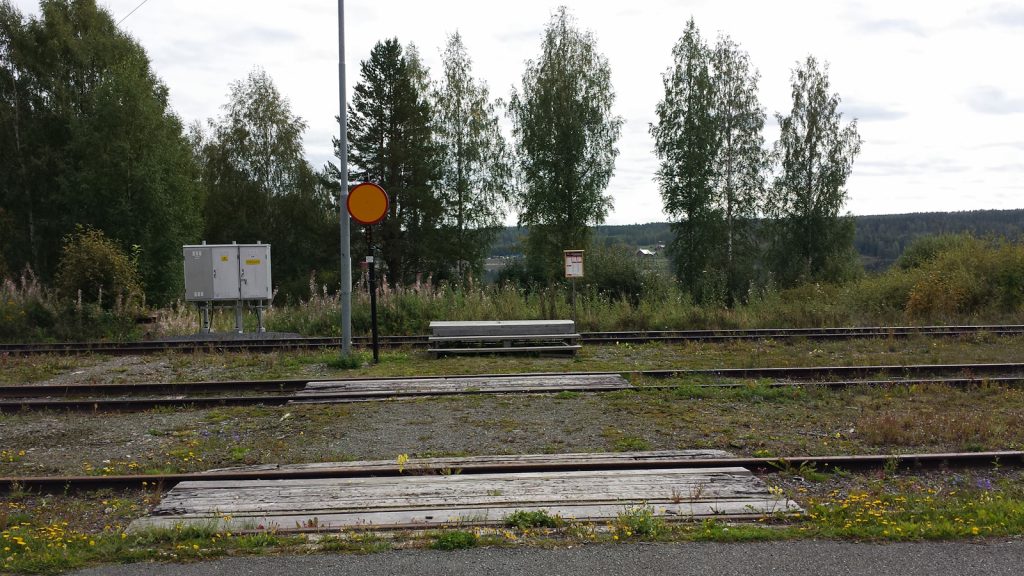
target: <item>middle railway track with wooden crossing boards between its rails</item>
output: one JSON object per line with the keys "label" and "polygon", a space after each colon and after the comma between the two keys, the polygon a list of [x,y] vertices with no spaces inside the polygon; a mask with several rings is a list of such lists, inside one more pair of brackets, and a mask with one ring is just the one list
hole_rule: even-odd
{"label": "middle railway track with wooden crossing boards between its rails", "polygon": [[[637,370],[629,372],[566,372],[421,376],[400,379],[284,379],[210,382],[139,382],[0,385],[0,413],[20,410],[146,410],[162,406],[285,405],[346,403],[432,396],[482,394],[555,394],[665,389],[678,384],[633,385],[637,377],[693,379],[696,385],[737,387],[742,380],[767,379],[769,386],[823,387],[983,383],[1016,386],[1024,382],[1024,364],[948,364],[911,366],[822,366],[787,368],[727,368],[710,370]],[[609,378],[612,379],[609,383]],[[621,383],[615,383],[617,379]],[[717,382],[708,382],[718,379]],[[492,385],[497,381],[497,385]],[[334,384],[324,387],[321,384]]]}

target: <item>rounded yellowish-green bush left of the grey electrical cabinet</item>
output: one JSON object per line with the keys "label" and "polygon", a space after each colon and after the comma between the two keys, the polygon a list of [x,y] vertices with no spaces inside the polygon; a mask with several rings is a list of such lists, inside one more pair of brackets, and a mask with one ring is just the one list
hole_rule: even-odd
{"label": "rounded yellowish-green bush left of the grey electrical cabinet", "polygon": [[140,306],[144,296],[138,274],[138,253],[128,255],[102,232],[77,227],[63,239],[56,288],[69,299],[112,310],[118,302]]}

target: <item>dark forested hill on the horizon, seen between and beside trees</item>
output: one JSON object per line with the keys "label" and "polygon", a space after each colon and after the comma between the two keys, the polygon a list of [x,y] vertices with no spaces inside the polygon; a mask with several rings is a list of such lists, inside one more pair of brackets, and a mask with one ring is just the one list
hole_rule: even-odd
{"label": "dark forested hill on the horizon, seen between and beside trees", "polygon": [[[979,237],[1001,236],[1015,241],[1024,239],[1024,209],[885,214],[856,216],[855,219],[857,236],[854,245],[860,252],[864,266],[872,271],[888,268],[920,236],[968,232]],[[492,255],[522,253],[519,240],[525,234],[525,229],[506,228],[498,235],[490,250]],[[601,225],[597,228],[597,238],[606,244],[648,247],[659,242],[668,244],[672,240],[672,229],[668,222]]]}

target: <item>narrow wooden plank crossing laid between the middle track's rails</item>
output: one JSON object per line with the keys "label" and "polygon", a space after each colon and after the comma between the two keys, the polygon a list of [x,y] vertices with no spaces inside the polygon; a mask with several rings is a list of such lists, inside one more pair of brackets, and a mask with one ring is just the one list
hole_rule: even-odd
{"label": "narrow wooden plank crossing laid between the middle track's rails", "polygon": [[[295,403],[330,402],[345,398],[389,398],[396,396],[425,396],[502,393],[556,393],[562,390],[616,390],[633,387],[618,374],[601,375],[523,375],[489,376],[482,378],[396,378],[379,380],[337,380],[309,382],[296,393]],[[316,396],[317,399],[303,399]],[[324,397],[328,397],[324,399]],[[323,400],[321,400],[323,399]]]}

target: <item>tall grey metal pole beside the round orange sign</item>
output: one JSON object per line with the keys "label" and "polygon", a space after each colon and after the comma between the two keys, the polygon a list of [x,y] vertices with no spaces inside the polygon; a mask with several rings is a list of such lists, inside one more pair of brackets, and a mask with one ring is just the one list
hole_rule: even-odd
{"label": "tall grey metal pole beside the round orange sign", "polygon": [[341,168],[341,194],[338,209],[341,221],[341,356],[352,354],[352,251],[349,246],[348,216],[348,115],[345,98],[345,0],[338,0],[338,93],[341,100],[341,137],[338,160]]}

